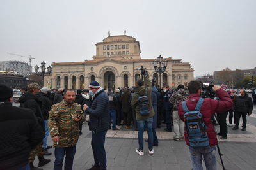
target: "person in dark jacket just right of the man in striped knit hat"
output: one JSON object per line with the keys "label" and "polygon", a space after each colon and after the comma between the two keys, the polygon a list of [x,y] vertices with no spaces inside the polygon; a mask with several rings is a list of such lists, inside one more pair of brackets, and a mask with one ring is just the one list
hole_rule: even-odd
{"label": "person in dark jacket just right of the man in striped knit hat", "polygon": [[108,89],[107,94],[108,94],[108,100],[109,100],[110,117],[112,120],[112,130],[114,131],[119,130],[118,128],[116,128],[116,106],[118,101],[117,101],[116,95],[113,94],[111,88]]}

